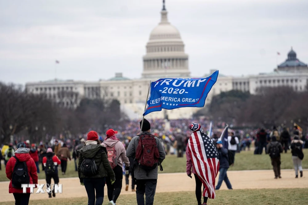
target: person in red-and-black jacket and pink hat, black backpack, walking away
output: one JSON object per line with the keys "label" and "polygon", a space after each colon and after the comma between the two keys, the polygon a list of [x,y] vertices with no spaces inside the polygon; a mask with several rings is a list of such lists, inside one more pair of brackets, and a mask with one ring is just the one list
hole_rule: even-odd
{"label": "person in red-and-black jacket and pink hat, black backpack, walking away", "polygon": [[[46,186],[50,188],[51,178],[54,179],[54,183],[59,183],[58,166],[61,161],[57,156],[54,155],[51,148],[46,151],[46,156],[43,157],[43,166],[45,171]],[[51,198],[51,193],[48,193]],[[55,189],[52,189],[52,196],[55,197]]]}

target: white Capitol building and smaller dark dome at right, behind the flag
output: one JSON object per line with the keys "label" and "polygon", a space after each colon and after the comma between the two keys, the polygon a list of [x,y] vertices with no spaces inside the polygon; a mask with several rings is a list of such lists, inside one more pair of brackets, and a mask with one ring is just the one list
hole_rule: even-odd
{"label": "white Capitol building and smaller dark dome at right, behind the flag", "polygon": [[[130,118],[140,119],[144,111],[150,80],[156,81],[159,78],[166,77],[191,77],[188,68],[188,54],[185,53],[180,32],[168,21],[168,12],[164,4],[160,14],[160,23],[150,33],[146,45],[141,78],[128,79],[122,73],[115,73],[115,77],[97,82],[55,79],[53,81],[26,83],[27,91],[35,94],[44,93],[49,99],[67,107],[75,107],[81,97],[117,99],[121,103],[122,110]],[[202,77],[208,77],[214,71],[210,70]],[[205,103],[210,103],[214,95],[232,89],[249,91],[254,94],[262,86],[288,85],[300,92],[305,89],[307,84],[307,64],[299,61],[295,51],[291,48],[286,61],[278,65],[272,73],[239,77],[219,74],[217,82],[209,92]],[[78,95],[73,93],[78,93]],[[72,97],[78,99],[72,99]],[[164,118],[164,114],[167,114],[169,119],[187,118],[198,109],[200,108],[166,110],[167,113],[152,112],[146,117]]]}

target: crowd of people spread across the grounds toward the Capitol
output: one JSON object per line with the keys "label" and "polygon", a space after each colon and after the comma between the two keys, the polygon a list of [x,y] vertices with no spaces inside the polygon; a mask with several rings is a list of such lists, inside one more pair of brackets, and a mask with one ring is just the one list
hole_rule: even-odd
{"label": "crowd of people spread across the grounds toward the Capitol", "polygon": [[[126,181],[125,191],[128,191],[130,175],[132,191],[136,192],[137,204],[153,204],[158,177],[157,170],[158,167],[162,170],[161,163],[165,155],[177,154],[178,157],[183,157],[186,152],[187,161],[191,161],[187,152],[188,141],[191,137],[191,130],[187,129],[187,124],[190,122],[191,120],[188,119],[170,120],[170,128],[166,129],[164,120],[152,120],[151,122],[144,120],[142,126],[141,122],[130,121],[125,127],[114,126],[112,127],[114,129],[108,129],[102,136],[95,131],[90,131],[86,136],[79,136],[79,139],[52,139],[46,143],[39,142],[38,146],[35,143],[30,144],[29,140],[5,144],[1,149],[0,159],[4,160],[7,177],[11,180],[9,193],[14,194],[16,204],[28,204],[30,190],[27,189],[29,195],[21,195],[22,192],[18,186],[15,186],[16,181],[14,182],[14,165],[18,161],[26,162],[30,182],[37,182],[37,173],[44,171],[47,184],[51,184],[51,179],[58,184],[58,173],[65,175],[67,161],[73,159],[80,183],[87,192],[88,204],[103,203],[103,187],[106,184],[108,205],[115,205],[121,193],[123,176]],[[204,130],[209,130],[208,119],[201,118],[198,122],[200,122],[200,127],[204,126]],[[139,123],[140,127],[136,126]],[[228,144],[224,147],[219,138],[225,125],[225,122],[219,122],[213,127],[213,132],[208,133],[211,143],[217,149],[217,157],[220,161],[220,176],[216,190],[220,189],[223,181],[229,189],[232,189],[227,170],[234,164],[236,153],[249,150],[252,144],[255,146],[254,154],[262,154],[265,148],[265,153],[270,155],[275,179],[282,177],[280,155],[282,152],[287,153],[290,149],[295,176],[296,178],[303,176],[302,149],[308,145],[308,135],[303,135],[297,125],[294,125],[292,132],[288,128],[275,126],[271,130],[265,128],[229,129]],[[115,131],[117,129],[122,132]],[[146,146],[143,144],[145,142]],[[192,165],[188,164],[188,176],[191,177],[192,173],[195,174],[196,179],[198,204],[206,204],[207,198],[204,198],[204,203],[199,200],[202,182],[198,179]],[[50,198],[55,197],[54,190],[48,194]]]}

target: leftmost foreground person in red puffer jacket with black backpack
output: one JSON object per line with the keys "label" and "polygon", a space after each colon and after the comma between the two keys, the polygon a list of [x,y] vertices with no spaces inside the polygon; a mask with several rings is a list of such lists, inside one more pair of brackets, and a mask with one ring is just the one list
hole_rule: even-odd
{"label": "leftmost foreground person in red puffer jacket with black backpack", "polygon": [[[27,184],[38,183],[36,165],[34,163],[34,160],[31,158],[29,152],[30,150],[26,148],[25,143],[23,142],[18,143],[15,156],[11,157],[6,164],[5,168],[6,177],[10,179],[9,193],[13,193],[15,198],[15,205],[29,204],[30,188],[26,188],[26,193],[23,193],[23,188],[21,187],[22,183],[27,183]],[[19,174],[21,171],[22,172],[26,171],[26,177],[22,178],[20,177]]]}

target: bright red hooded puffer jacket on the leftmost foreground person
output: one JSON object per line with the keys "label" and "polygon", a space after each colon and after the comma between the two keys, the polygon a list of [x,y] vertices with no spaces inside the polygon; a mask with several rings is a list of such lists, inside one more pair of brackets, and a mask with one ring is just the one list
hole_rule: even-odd
{"label": "bright red hooded puffer jacket on the leftmost foreground person", "polygon": [[[36,173],[36,165],[34,163],[34,160],[30,157],[29,152],[30,150],[28,148],[18,148],[15,152],[15,156],[19,161],[26,162],[28,174],[30,176],[30,184],[37,184],[38,175]],[[11,180],[9,184],[9,193],[22,193],[22,188],[14,188],[12,186],[12,174],[16,161],[17,160],[14,157],[11,157],[5,167],[6,177]],[[26,190],[27,193],[30,193],[30,188],[27,188]]]}

